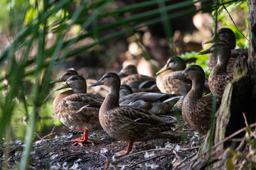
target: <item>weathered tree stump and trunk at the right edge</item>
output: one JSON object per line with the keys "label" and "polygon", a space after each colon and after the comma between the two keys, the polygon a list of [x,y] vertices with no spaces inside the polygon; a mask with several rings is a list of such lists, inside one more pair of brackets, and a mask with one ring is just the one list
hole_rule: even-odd
{"label": "weathered tree stump and trunk at the right edge", "polygon": [[[213,159],[214,153],[223,151],[227,147],[237,147],[238,145],[235,142],[222,142],[223,139],[246,126],[243,113],[247,123],[256,122],[256,1],[249,0],[248,7],[250,31],[248,58],[239,57],[236,61],[233,81],[226,86],[220,108],[215,114],[213,135],[210,134],[210,131],[208,132],[195,158],[196,161],[190,166],[191,169],[205,169],[208,164],[211,164],[210,169],[217,169],[217,167],[223,166],[223,160],[221,160],[223,158]],[[237,135],[235,138],[243,137],[244,135],[245,133]],[[214,147],[208,152],[211,143],[218,145],[218,147]],[[204,156],[199,158],[199,155]],[[206,159],[207,157],[208,159]]]}

